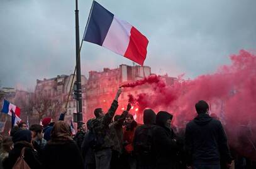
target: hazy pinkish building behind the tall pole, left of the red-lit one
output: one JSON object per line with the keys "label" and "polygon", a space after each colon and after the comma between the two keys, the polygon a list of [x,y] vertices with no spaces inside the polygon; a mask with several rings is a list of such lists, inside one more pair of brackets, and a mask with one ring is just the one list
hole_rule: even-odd
{"label": "hazy pinkish building behind the tall pole, left of the red-lit one", "polygon": [[[72,83],[72,78],[74,74],[68,75],[59,75],[55,78],[36,80],[35,88],[35,98],[36,108],[35,114],[38,119],[42,119],[45,116],[50,116],[54,120],[58,120],[58,116],[62,111],[65,110],[67,105],[67,114],[65,116],[65,121],[72,120],[73,113],[77,112],[76,100],[73,96],[73,88],[71,88],[70,96],[70,86],[74,85]],[[82,89],[85,88],[87,79],[85,76],[81,77]],[[69,98],[69,101],[67,101]],[[83,111],[86,110],[86,98],[83,95]]]}

